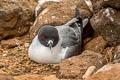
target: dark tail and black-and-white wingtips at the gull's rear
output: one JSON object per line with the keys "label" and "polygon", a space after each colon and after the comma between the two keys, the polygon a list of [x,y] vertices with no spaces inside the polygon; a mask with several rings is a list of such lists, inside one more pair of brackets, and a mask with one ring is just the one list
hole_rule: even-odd
{"label": "dark tail and black-and-white wingtips at the gull's rear", "polygon": [[73,18],[71,21],[69,21],[66,24],[67,26],[71,27],[74,30],[80,44],[82,44],[83,28],[87,25],[87,23],[88,23],[88,19],[87,18],[82,19],[80,17],[79,10],[76,8],[75,18]]}

